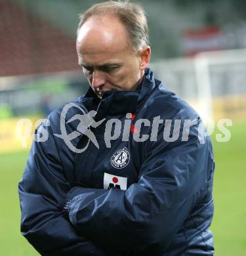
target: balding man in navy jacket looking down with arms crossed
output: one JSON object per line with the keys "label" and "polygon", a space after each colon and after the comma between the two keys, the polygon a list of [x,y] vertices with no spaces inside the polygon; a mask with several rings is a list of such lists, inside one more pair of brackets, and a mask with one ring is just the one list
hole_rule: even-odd
{"label": "balding man in navy jacket looking down with arms crossed", "polygon": [[19,184],[22,234],[42,255],[213,255],[211,142],[147,68],[142,8],[92,6],[76,47],[91,87],[38,131],[49,138]]}

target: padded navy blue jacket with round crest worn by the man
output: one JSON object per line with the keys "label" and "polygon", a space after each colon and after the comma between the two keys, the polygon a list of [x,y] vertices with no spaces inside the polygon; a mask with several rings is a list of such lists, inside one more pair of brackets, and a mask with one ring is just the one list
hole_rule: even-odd
{"label": "padded navy blue jacket with round crest worn by the man", "polygon": [[[49,137],[33,142],[19,183],[21,232],[39,253],[213,255],[213,149],[186,102],[146,69],[137,91],[110,91],[100,100],[89,89],[62,110],[36,131]],[[87,129],[98,144],[79,129],[81,110],[104,120]],[[157,117],[164,120],[159,126]],[[122,132],[109,147],[104,136],[112,119]],[[61,120],[83,152],[65,144]]]}

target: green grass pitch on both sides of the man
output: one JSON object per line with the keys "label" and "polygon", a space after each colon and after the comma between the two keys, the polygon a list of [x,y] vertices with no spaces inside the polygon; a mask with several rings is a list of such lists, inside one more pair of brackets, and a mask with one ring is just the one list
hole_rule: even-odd
{"label": "green grass pitch on both sides of the man", "polygon": [[[229,142],[216,142],[215,217],[211,230],[216,256],[243,256],[246,252],[246,123],[229,127]],[[0,255],[39,255],[20,234],[20,206],[17,186],[28,152],[0,155]]]}

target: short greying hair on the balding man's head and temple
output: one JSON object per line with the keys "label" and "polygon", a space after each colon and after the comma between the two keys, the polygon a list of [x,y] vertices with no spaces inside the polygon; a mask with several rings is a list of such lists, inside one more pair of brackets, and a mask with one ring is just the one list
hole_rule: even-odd
{"label": "short greying hair on the balding man's head and temple", "polygon": [[127,30],[129,43],[134,51],[150,44],[144,9],[139,4],[129,3],[129,1],[106,1],[92,5],[91,8],[79,15],[77,32],[91,16],[107,14],[113,14],[121,20]]}

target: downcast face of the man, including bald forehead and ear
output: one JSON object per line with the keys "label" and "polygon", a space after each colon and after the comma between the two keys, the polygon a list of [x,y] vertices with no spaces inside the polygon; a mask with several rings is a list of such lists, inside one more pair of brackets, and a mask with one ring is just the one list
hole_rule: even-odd
{"label": "downcast face of the man, including bald forehead and ear", "polygon": [[80,28],[77,54],[83,73],[99,97],[104,91],[134,90],[150,59],[150,47],[137,53],[115,16],[92,16]]}

